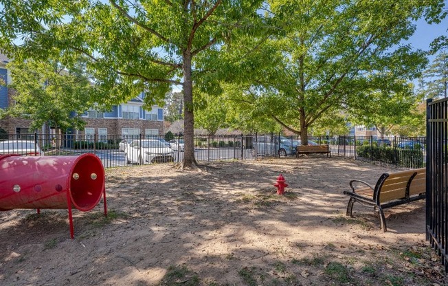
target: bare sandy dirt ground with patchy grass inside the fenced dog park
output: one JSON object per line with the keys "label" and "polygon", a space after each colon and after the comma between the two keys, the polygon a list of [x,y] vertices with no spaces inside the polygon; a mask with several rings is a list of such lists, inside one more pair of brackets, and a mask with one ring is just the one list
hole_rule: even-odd
{"label": "bare sandy dirt ground with patchy grass inside the fenced dog park", "polygon": [[[425,201],[345,216],[350,179],[396,170],[322,155],[107,169],[102,203],[0,213],[0,285],[447,285]],[[273,184],[282,173],[284,196]]]}

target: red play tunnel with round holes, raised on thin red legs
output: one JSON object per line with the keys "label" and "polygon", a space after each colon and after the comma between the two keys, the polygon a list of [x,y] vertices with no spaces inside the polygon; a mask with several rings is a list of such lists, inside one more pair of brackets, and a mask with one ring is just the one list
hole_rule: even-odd
{"label": "red play tunnel with round holes, raised on thin red legs", "polygon": [[71,208],[87,211],[104,195],[104,168],[96,155],[0,156],[0,210]]}

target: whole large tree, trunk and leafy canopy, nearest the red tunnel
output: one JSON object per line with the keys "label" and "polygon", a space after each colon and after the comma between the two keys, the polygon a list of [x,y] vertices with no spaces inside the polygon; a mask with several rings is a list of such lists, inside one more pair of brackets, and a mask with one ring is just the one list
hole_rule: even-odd
{"label": "whole large tree, trunk and leafy canopy, nearest the red tunnel", "polygon": [[[201,62],[212,61],[233,30],[255,25],[260,0],[214,1],[8,1],[1,0],[1,43],[17,54],[82,55],[96,85],[111,96],[100,103],[123,102],[146,92],[145,103],[161,104],[172,85],[183,89],[185,154],[194,161],[193,87],[209,91]],[[216,65],[218,67],[218,65]],[[193,85],[194,83],[194,85]]]}

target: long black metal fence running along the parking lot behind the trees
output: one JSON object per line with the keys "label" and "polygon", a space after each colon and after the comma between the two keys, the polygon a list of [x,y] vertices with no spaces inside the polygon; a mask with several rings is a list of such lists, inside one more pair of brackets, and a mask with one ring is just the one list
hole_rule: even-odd
{"label": "long black metal fence running along the parking lot behind the trees", "polygon": [[[198,162],[254,160],[295,155],[300,137],[271,134],[194,135]],[[308,144],[328,145],[333,156],[396,168],[425,166],[425,137],[320,136]],[[94,153],[105,168],[153,162],[181,162],[183,137],[164,135],[0,134],[0,155],[80,155]]]}

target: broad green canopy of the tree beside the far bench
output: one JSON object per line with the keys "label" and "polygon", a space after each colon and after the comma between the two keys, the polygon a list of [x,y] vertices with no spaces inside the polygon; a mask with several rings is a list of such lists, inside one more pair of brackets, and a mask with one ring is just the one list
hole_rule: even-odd
{"label": "broad green canopy of the tree beside the far bench", "polygon": [[[427,60],[425,52],[401,42],[414,33],[415,19],[438,21],[444,6],[438,0],[269,3],[280,32],[261,50],[276,61],[252,72],[250,88],[240,97],[300,134],[302,144],[308,129],[326,113],[356,107],[359,98],[366,102],[366,91],[386,96],[384,100],[391,92],[403,94]],[[253,56],[244,62],[256,63]]]}

